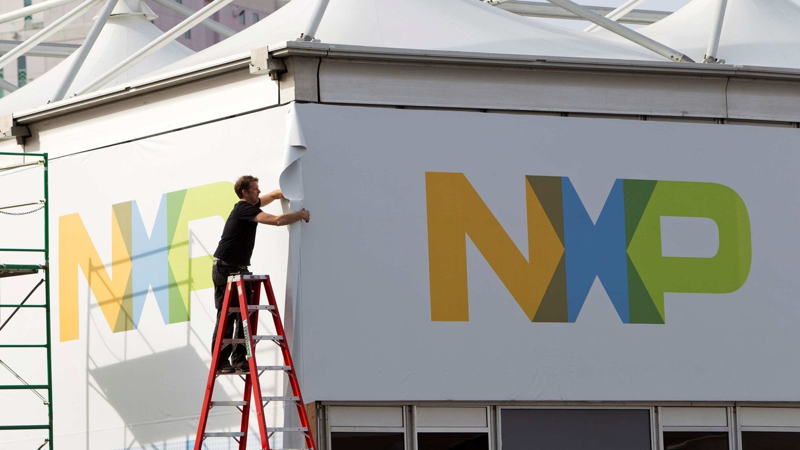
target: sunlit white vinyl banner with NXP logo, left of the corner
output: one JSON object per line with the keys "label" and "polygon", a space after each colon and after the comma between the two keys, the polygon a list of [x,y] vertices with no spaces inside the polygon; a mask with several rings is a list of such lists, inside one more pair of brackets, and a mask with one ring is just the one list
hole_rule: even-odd
{"label": "sunlit white vinyl banner with NXP logo, left of the corner", "polygon": [[[263,193],[278,188],[286,112],[265,110],[76,155],[50,152],[56,157],[50,161],[56,448],[191,448],[216,320],[211,255],[238,201],[234,181],[254,175]],[[41,183],[40,178],[23,180],[23,175],[0,177],[0,191],[22,197],[23,187]],[[31,195],[38,198],[41,194],[34,191]],[[264,211],[280,214],[281,202]],[[0,219],[4,238],[31,234],[27,216]],[[41,223],[38,227],[36,233]],[[288,237],[285,227],[258,227],[250,267],[272,275],[279,304]],[[16,245],[12,239],[0,247]],[[25,283],[15,278],[18,287],[12,288],[14,279],[0,283],[3,303],[21,300],[15,294]],[[259,331],[268,332],[270,317],[261,319]],[[43,323],[20,327],[27,338],[44,339]],[[36,327],[38,335],[32,331]],[[3,343],[22,340],[18,333],[0,336]],[[260,351],[258,363],[282,364],[276,349]],[[34,360],[29,352],[6,361],[35,384],[44,372]],[[0,372],[3,381],[10,379],[5,369]],[[243,382],[232,378],[218,378],[214,400],[242,400]],[[282,373],[265,374],[261,383],[263,392],[282,395]],[[19,398],[18,404],[38,401],[32,392],[22,393],[30,398]],[[19,412],[26,411],[21,408],[3,404],[2,423],[46,423],[45,406],[39,408],[43,417],[42,411],[21,417]],[[270,426],[282,424],[279,408],[267,408]],[[207,429],[238,431],[240,417],[233,407],[214,408]],[[257,432],[254,415],[250,425]],[[34,432],[0,436],[6,436],[0,439],[2,448],[42,444]],[[230,438],[207,444],[238,448]]]}

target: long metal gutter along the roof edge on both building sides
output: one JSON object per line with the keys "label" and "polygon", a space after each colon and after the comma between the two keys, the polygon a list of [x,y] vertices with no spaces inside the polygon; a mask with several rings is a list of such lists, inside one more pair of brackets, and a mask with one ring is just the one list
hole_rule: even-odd
{"label": "long metal gutter along the roof edge on both building sides", "polygon": [[[566,58],[520,54],[490,54],[450,50],[408,50],[367,46],[339,46],[319,42],[290,41],[269,47],[271,58],[306,56],[345,59],[349,62],[404,63],[442,66],[493,66],[497,68],[542,68],[593,70],[639,74],[682,75],[693,77],[738,77],[784,80],[800,83],[800,70],[780,67],[734,66],[731,64],[696,64],[689,62],[638,61],[602,58]],[[169,74],[144,78],[138,82],[67,98],[14,115],[18,124],[33,123],[108,102],[161,90],[167,87],[212,77],[250,66],[250,54],[238,54],[224,60],[194,66]]]}

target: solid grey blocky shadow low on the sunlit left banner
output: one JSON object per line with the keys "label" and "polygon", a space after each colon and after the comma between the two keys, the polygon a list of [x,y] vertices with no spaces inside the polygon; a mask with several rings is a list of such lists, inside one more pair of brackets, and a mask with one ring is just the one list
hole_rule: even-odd
{"label": "solid grey blocky shadow low on the sunlit left banner", "polygon": [[[186,439],[197,432],[208,367],[194,348],[175,348],[89,372],[138,444]],[[215,424],[238,427],[238,418],[217,417]]]}

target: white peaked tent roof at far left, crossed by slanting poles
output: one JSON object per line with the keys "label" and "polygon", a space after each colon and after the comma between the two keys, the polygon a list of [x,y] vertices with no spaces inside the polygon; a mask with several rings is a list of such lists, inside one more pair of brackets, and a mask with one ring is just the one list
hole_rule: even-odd
{"label": "white peaked tent roof at far left, crossed by slanting poles", "polygon": [[[149,12],[149,11],[148,11]],[[81,70],[75,77],[67,96],[89,82],[94,81],[101,74],[121,62],[122,59],[134,54],[147,43],[158,38],[162,31],[150,23],[146,14],[140,11],[133,12],[126,2],[118,2],[114,13],[108,18],[106,26],[98,35],[94,46],[86,55]],[[143,74],[157,70],[160,67],[186,58],[194,52],[178,42],[170,42],[158,52],[151,54],[136,66],[131,67],[118,78],[106,84],[114,86],[130,79],[138,78]],[[10,114],[19,110],[26,110],[36,106],[45,105],[53,99],[58,86],[70,69],[70,62],[76,54],[71,54],[58,66],[48,70],[34,81],[22,86],[19,90],[0,98],[0,115]]]}

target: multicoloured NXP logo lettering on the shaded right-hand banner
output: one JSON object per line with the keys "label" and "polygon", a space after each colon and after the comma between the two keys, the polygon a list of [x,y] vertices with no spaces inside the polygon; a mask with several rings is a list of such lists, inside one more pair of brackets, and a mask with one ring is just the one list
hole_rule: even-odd
{"label": "multicoloured NXP logo lettering on the shaded right-hand banner", "polygon": [[[466,176],[426,172],[432,320],[469,320],[466,236],[533,322],[574,322],[595,277],[623,323],[664,323],[664,292],[728,293],[750,273],[750,218],[730,187],[617,179],[594,223],[569,178],[525,181],[527,259]],[[713,220],[716,255],[663,256],[662,216]]]}

